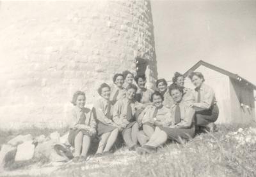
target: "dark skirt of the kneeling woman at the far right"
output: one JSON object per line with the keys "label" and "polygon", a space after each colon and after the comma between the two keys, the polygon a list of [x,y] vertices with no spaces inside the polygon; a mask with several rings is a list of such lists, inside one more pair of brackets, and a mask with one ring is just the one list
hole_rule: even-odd
{"label": "dark skirt of the kneeling woman at the far right", "polygon": [[195,114],[196,125],[206,125],[215,122],[219,116],[219,108],[217,104],[212,105],[211,109],[199,111]]}

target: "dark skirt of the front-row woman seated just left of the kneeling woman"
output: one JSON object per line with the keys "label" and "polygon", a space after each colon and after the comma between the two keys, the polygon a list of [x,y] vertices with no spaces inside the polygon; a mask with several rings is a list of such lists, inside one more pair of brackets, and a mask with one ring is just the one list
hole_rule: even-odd
{"label": "dark skirt of the front-row woman seated just left of the kneeling woman", "polygon": [[186,129],[182,128],[170,128],[159,126],[159,129],[166,132],[168,139],[179,142],[179,139],[191,139],[195,137],[195,126]]}

